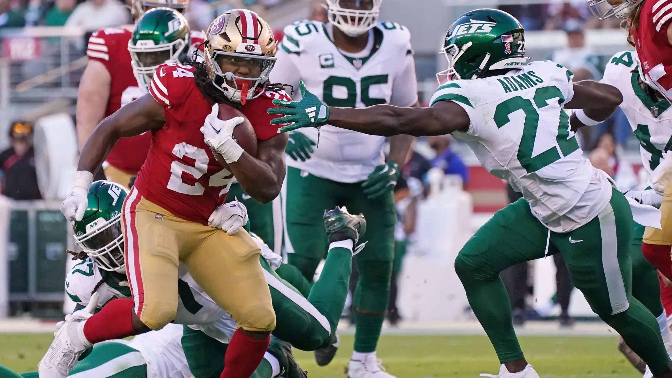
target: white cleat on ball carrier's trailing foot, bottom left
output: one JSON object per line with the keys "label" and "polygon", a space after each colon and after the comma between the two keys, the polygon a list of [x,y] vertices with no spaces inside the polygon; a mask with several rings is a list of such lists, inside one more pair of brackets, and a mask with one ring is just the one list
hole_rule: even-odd
{"label": "white cleat on ball carrier's trailing foot, bottom left", "polygon": [[84,337],[84,322],[62,324],[54,341],[38,364],[40,378],[65,378],[77,363],[79,355],[92,344]]}

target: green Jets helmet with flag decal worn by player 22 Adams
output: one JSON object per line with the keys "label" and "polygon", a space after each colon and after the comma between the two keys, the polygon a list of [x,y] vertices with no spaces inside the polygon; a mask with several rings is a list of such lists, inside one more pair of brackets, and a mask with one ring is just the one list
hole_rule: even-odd
{"label": "green Jets helmet with flag decal worn by player 22 Adams", "polygon": [[499,9],[476,9],[464,13],[450,26],[440,50],[448,69],[436,74],[439,83],[478,79],[496,69],[526,65],[525,30],[509,13]]}

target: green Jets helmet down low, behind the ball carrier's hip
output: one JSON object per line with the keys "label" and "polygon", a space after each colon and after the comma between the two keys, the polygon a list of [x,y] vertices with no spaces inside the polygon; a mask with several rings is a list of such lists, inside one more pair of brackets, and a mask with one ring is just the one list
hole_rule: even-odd
{"label": "green Jets helmet down low, behind the ball carrier's hip", "polygon": [[122,209],[128,190],[114,182],[99,180],[89,188],[89,204],[81,221],[73,223],[75,243],[99,268],[125,273]]}

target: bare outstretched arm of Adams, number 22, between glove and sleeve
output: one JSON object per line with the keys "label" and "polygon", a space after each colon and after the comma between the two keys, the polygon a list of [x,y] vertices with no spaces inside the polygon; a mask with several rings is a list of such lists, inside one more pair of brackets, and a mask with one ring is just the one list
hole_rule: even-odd
{"label": "bare outstretched arm of Adams, number 22, between glove and sleeve", "polygon": [[445,135],[469,126],[469,116],[454,102],[431,108],[376,105],[368,108],[329,108],[328,124],[369,135]]}

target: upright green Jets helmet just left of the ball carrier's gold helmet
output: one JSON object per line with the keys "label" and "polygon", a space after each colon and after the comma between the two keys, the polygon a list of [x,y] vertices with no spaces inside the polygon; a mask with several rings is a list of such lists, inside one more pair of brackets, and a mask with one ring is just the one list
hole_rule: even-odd
{"label": "upright green Jets helmet just left of the ball carrier's gold helmet", "polygon": [[189,24],[179,11],[153,8],[133,28],[128,41],[131,66],[140,88],[147,89],[163,63],[185,63],[191,43]]}

